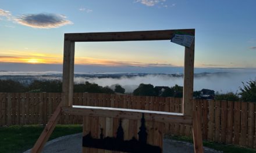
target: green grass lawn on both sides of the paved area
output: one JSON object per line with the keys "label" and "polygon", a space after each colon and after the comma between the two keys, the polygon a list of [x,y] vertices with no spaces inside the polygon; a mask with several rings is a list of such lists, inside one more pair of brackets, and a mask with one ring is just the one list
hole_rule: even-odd
{"label": "green grass lawn on both sides of the paved area", "polygon": [[[44,126],[40,125],[9,126],[7,128],[0,128],[0,152],[23,152],[32,148],[43,129]],[[81,125],[57,125],[50,137],[50,140],[55,139],[56,137],[80,132],[82,132]],[[165,136],[165,138],[193,143],[193,140],[189,137]],[[204,146],[227,153],[256,153],[256,150],[250,148],[239,147],[237,145],[214,143],[209,141],[204,141]]]}

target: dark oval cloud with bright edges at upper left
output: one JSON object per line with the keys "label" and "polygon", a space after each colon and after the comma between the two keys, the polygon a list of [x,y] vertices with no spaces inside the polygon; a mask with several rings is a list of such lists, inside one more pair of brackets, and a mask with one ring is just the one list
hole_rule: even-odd
{"label": "dark oval cloud with bright edges at upper left", "polygon": [[57,28],[66,24],[72,24],[61,14],[24,14],[15,19],[17,23],[33,28]]}

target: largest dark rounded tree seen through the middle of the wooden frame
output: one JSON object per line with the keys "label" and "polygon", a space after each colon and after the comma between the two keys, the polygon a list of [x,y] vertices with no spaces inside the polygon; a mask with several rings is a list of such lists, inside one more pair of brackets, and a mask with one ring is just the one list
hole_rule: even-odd
{"label": "largest dark rounded tree seen through the middle of the wooden frame", "polygon": [[133,91],[135,96],[156,96],[154,86],[151,84],[141,83],[137,89]]}

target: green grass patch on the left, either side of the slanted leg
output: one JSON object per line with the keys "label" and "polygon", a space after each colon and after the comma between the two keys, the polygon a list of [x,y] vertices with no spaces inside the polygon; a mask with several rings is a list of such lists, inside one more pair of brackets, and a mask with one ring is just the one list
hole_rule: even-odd
{"label": "green grass patch on the left, either side of the slanted leg", "polygon": [[[0,152],[23,152],[33,147],[44,126],[9,126],[0,128]],[[50,140],[82,132],[81,125],[57,125]]]}

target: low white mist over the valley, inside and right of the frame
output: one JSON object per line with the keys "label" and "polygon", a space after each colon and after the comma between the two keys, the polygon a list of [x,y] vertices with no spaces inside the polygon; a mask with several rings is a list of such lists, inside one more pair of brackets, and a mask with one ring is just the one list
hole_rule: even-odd
{"label": "low white mist over the valley, inside and right of the frame", "polygon": [[[215,92],[240,92],[239,87],[243,86],[242,82],[247,82],[256,79],[255,72],[248,73],[209,73],[198,74],[194,77],[194,90],[211,89]],[[126,93],[133,92],[140,83],[150,83],[154,86],[183,86],[183,77],[172,77],[165,74],[148,74],[145,76],[136,77],[121,77],[121,78],[74,78],[75,83],[94,82],[101,86],[111,86],[119,84],[126,89]]]}

